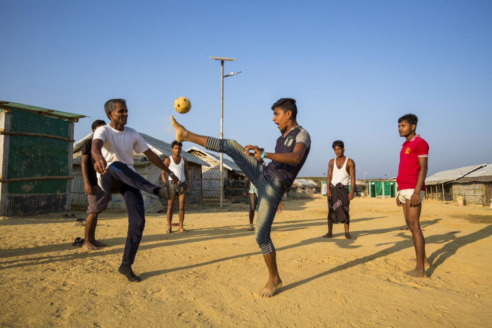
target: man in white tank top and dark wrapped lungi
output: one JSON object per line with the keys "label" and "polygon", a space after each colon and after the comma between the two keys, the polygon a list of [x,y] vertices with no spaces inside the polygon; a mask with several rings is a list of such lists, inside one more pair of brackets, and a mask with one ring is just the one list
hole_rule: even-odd
{"label": "man in white tank top and dark wrapped lungi", "polygon": [[[350,215],[349,206],[353,199],[353,192],[356,187],[356,163],[344,155],[345,148],[343,141],[337,140],[332,144],[336,158],[328,163],[328,178],[326,179],[326,196],[328,198],[328,232],[323,238],[333,237],[333,223],[343,222],[345,228],[345,238],[357,239],[352,237],[349,230]],[[348,192],[348,182],[350,180],[350,192]]]}

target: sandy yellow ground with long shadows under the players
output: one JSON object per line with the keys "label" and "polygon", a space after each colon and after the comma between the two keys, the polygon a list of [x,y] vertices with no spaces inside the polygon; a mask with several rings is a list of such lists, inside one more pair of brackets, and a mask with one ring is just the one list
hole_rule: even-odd
{"label": "sandy yellow ground with long shadows under the players", "polygon": [[[189,233],[165,234],[165,213],[148,213],[130,283],[117,269],[126,213],[100,215],[96,237],[73,247],[84,227],[60,213],[0,219],[3,327],[489,327],[492,209],[427,201],[421,224],[432,266],[411,279],[411,233],[394,199],[356,198],[350,232],[326,233],[326,198],[287,201],[272,239],[284,286],[254,296],[267,280],[245,230],[248,205],[187,206]],[[83,211],[72,211],[85,217]],[[175,230],[176,227],[174,227]]]}

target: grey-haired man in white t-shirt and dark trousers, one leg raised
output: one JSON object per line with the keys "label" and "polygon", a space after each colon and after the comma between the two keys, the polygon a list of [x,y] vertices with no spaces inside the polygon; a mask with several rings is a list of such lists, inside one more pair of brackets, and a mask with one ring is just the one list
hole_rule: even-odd
{"label": "grey-haired man in white t-shirt and dark trousers, one leg raised", "polygon": [[140,190],[169,199],[169,185],[162,188],[150,183],[133,168],[133,152],[144,153],[159,169],[166,171],[171,179],[178,182],[173,172],[144,141],[139,132],[125,127],[128,119],[128,108],[125,99],[111,99],[104,104],[104,111],[111,123],[99,127],[94,132],[92,141],[92,157],[97,172],[97,182],[106,192],[121,194],[128,211],[128,235],[126,237],[123,260],[118,269],[131,282],[139,282],[131,269],[136,251],[145,227],[144,199]]}

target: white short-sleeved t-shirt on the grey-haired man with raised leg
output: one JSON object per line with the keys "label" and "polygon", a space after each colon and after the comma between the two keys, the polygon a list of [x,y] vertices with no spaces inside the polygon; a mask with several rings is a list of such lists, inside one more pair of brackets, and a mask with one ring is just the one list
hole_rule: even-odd
{"label": "white short-sleeved t-shirt on the grey-haired man with raised leg", "polygon": [[[94,131],[93,140],[100,139],[103,141],[101,153],[106,160],[107,166],[115,161],[120,161],[133,168],[133,151],[137,154],[143,153],[149,149],[149,145],[142,136],[131,127],[124,127],[123,131],[115,130],[110,124],[103,125]],[[101,186],[101,176],[97,174],[97,181]]]}

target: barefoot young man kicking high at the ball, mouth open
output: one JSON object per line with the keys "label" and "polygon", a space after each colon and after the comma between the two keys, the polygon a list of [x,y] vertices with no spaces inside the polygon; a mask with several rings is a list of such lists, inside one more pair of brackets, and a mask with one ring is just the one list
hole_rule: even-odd
{"label": "barefoot young man kicking high at the ball, mouth open", "polygon": [[[270,239],[270,229],[276,212],[280,210],[282,196],[303,167],[311,147],[309,133],[297,124],[297,106],[294,99],[279,99],[271,109],[274,111],[273,121],[282,133],[277,139],[274,153],[267,153],[253,145],[242,147],[230,139],[195,134],[186,130],[171,116],[178,142],[189,141],[208,150],[229,155],[258,189],[255,237],[269,274],[265,287],[257,294],[259,297],[273,296],[282,286],[277,269],[277,253]],[[267,166],[260,161],[264,158],[271,160]]]}

